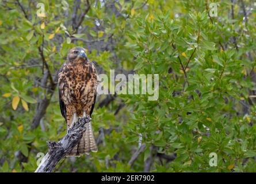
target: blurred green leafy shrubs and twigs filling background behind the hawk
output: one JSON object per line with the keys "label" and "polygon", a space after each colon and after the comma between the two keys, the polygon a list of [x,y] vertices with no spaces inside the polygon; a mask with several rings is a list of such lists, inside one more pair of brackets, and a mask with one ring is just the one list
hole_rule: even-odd
{"label": "blurred green leafy shrubs and twigs filling background behind the hawk", "polygon": [[159,74],[159,98],[98,95],[98,152],[66,158],[55,172],[255,172],[255,8],[249,0],[0,1],[0,171],[35,171],[46,141],[65,135],[56,75],[80,46],[98,74]]}

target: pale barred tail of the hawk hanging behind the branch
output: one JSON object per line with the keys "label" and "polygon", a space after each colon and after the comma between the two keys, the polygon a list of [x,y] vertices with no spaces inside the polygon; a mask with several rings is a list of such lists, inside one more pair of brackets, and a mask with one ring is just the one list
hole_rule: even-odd
{"label": "pale barred tail of the hawk hanging behind the branch", "polygon": [[83,154],[89,154],[90,151],[98,151],[98,147],[93,136],[93,128],[91,127],[91,122],[87,122],[85,127],[86,131],[83,133],[81,140],[67,156],[80,156]]}

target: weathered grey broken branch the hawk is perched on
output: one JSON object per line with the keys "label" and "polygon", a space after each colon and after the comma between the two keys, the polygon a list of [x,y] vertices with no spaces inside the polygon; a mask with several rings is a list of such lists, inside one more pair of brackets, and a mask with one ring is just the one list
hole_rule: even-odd
{"label": "weathered grey broken branch the hawk is perched on", "polygon": [[78,144],[86,131],[85,124],[90,122],[91,118],[79,118],[75,124],[68,129],[67,134],[59,142],[50,141],[47,143],[49,151],[42,159],[35,173],[50,173],[55,166]]}

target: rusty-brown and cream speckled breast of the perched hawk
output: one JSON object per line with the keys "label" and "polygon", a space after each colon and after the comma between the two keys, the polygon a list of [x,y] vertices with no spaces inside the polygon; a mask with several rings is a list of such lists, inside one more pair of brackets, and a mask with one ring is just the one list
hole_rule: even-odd
{"label": "rusty-brown and cream speckled breast of the perched hawk", "polygon": [[60,81],[60,93],[64,104],[75,106],[77,113],[85,108],[90,111],[97,89],[97,71],[94,65],[84,62],[67,63],[63,72],[59,74]]}

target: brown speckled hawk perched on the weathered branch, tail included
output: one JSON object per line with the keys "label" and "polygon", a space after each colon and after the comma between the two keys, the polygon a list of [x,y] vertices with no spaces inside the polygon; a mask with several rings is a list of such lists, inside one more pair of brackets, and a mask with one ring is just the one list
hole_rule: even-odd
{"label": "brown speckled hawk perched on the weathered branch, tail included", "polygon": [[[95,104],[97,71],[94,64],[89,61],[84,48],[75,47],[68,52],[67,62],[59,70],[58,82],[60,110],[67,122],[68,130],[79,117],[91,117]],[[98,151],[91,122],[86,123],[85,127],[82,139],[68,156]]]}

